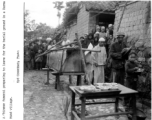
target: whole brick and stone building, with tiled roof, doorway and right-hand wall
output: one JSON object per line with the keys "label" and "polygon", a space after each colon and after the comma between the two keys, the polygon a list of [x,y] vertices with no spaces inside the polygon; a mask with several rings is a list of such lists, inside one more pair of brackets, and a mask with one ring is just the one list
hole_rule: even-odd
{"label": "whole brick and stone building, with tiled roof, doorway and right-hand wall", "polygon": [[73,5],[66,16],[67,37],[75,39],[85,33],[94,33],[96,25],[114,24],[114,35],[124,32],[126,43],[138,52],[139,59],[151,54],[150,1],[90,1]]}

